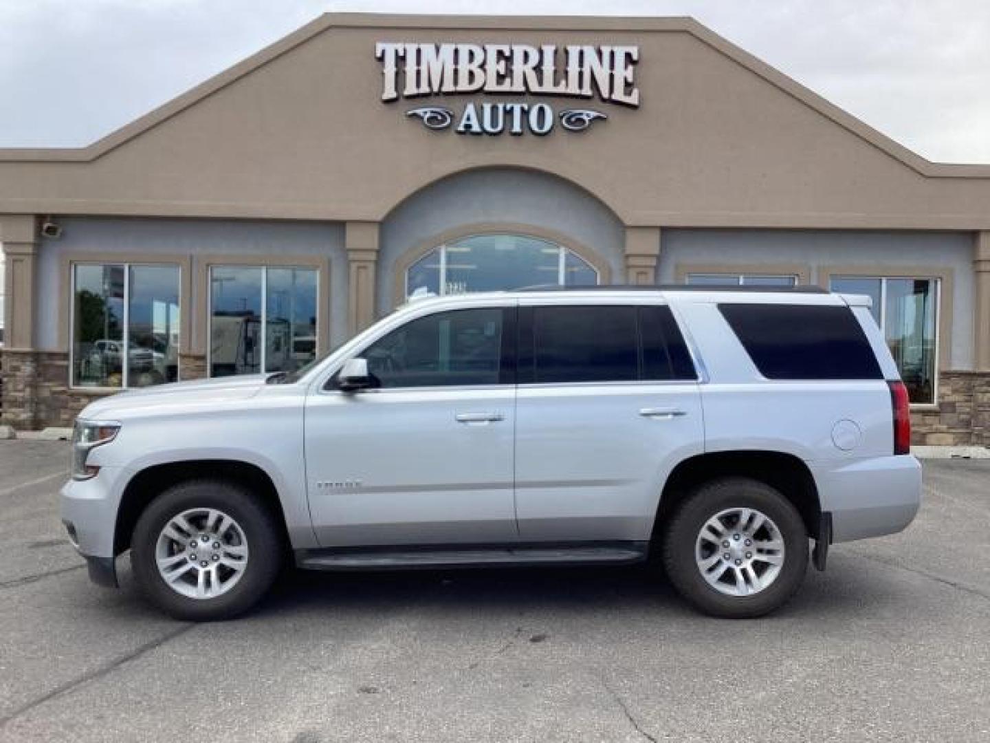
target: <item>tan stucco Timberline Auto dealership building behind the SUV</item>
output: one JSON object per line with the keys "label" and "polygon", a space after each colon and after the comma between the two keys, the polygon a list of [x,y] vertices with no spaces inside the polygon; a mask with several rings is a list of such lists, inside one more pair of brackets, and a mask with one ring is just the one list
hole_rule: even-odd
{"label": "tan stucco Timberline Auto dealership building behind the SUV", "polygon": [[[66,112],[70,115],[70,112]],[[916,443],[990,446],[990,166],[681,18],[331,14],[82,149],[0,150],[2,417],[294,370],[413,294],[869,294]]]}

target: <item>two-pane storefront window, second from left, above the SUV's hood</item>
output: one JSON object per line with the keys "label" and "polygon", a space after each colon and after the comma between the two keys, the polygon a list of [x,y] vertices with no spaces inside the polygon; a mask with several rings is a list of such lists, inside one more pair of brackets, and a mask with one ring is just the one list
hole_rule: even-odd
{"label": "two-pane storefront window, second from left, above the SUV's hood", "polygon": [[316,358],[315,269],[214,266],[210,302],[212,376],[296,371]]}

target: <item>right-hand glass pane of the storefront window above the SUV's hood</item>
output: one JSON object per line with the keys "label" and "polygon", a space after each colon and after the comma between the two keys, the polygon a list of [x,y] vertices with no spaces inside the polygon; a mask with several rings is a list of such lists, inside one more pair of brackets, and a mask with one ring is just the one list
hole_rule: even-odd
{"label": "right-hand glass pane of the storefront window above the SUV's hood", "polygon": [[316,358],[316,271],[268,268],[265,371],[296,371]]}

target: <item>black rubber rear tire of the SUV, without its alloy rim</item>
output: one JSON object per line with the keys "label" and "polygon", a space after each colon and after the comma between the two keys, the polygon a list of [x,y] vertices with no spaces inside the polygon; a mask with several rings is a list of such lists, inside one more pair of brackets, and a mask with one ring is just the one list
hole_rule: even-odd
{"label": "black rubber rear tire of the SUV, without its alloy rim", "polygon": [[[695,562],[698,533],[708,519],[729,508],[754,508],[768,516],[784,541],[784,565],[759,593],[732,596],[709,585]],[[720,478],[698,487],[676,510],[665,531],[663,565],[668,580],[697,608],[713,616],[744,619],[785,603],[808,570],[808,533],[797,508],[778,490],[750,478]]]}

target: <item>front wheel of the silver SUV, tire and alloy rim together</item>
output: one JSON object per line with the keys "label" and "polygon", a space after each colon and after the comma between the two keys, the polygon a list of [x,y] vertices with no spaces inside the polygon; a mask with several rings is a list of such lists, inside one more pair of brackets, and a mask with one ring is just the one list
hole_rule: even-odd
{"label": "front wheel of the silver SUV, tire and alloy rim together", "polygon": [[270,511],[244,485],[188,480],[164,490],[141,514],[131,565],[144,596],[170,616],[230,619],[274,582],[282,562],[280,534]]}

